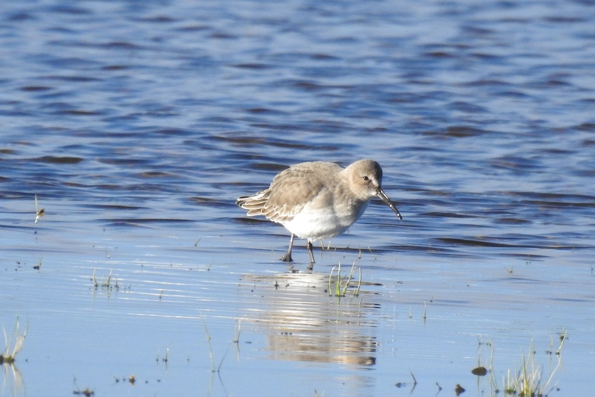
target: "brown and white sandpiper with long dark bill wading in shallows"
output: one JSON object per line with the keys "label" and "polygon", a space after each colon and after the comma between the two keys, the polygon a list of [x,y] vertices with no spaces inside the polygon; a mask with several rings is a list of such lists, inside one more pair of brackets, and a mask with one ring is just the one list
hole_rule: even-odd
{"label": "brown and white sandpiper with long dark bill wading in shallows", "polygon": [[298,236],[308,240],[313,264],[312,242],[346,232],[372,197],[380,198],[402,219],[381,183],[382,168],[374,160],[359,160],[347,168],[333,162],[300,162],[275,175],[268,189],[240,197],[236,204],[248,210],[248,216],[264,215],[292,233],[282,261],[292,262],[293,238]]}

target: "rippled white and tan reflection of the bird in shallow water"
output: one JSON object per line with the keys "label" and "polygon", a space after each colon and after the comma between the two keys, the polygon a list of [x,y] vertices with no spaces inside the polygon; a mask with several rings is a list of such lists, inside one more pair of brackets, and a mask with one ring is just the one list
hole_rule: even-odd
{"label": "rippled white and tan reflection of the bird in shallow water", "polygon": [[[379,305],[345,296],[341,304],[328,296],[328,276],[317,273],[246,276],[262,282],[263,301],[248,321],[266,330],[268,351],[275,360],[374,365],[377,329],[370,314]],[[274,287],[277,284],[278,287]],[[258,287],[258,285],[257,285]]]}

